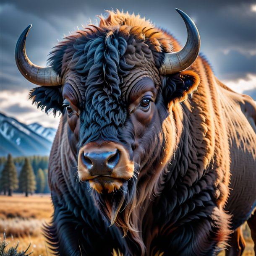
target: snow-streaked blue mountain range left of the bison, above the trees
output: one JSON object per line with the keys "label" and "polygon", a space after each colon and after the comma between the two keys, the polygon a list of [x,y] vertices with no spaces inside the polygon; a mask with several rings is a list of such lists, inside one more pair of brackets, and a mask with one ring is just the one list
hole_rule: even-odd
{"label": "snow-streaked blue mountain range left of the bison, above the trees", "polygon": [[50,154],[56,130],[38,123],[25,125],[0,113],[0,156],[13,157]]}

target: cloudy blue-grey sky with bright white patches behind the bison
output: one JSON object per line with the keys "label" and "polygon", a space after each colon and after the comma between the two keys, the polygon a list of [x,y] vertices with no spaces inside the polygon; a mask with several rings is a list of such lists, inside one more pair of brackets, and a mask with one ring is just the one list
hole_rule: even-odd
{"label": "cloudy blue-grey sky with bright white patches behind the bison", "polygon": [[[140,14],[186,42],[185,25],[175,8],[187,13],[201,35],[201,54],[227,86],[256,101],[256,1],[251,0],[1,0],[0,111],[26,124],[56,127],[58,119],[37,110],[28,100],[35,87],[19,73],[14,59],[16,41],[32,24],[26,51],[44,66],[63,35],[97,22],[96,15],[116,9]],[[78,27],[78,28],[77,28]]]}

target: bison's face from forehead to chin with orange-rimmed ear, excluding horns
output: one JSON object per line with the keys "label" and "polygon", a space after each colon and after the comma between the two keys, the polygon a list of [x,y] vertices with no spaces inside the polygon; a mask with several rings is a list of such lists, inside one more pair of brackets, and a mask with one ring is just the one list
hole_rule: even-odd
{"label": "bison's face from forehead to chin with orange-rimmed ear, excluding horns", "polygon": [[[112,193],[124,189],[122,186],[129,193],[131,179],[138,180],[139,173],[141,179],[156,168],[160,171],[159,163],[163,167],[170,160],[176,142],[170,105],[193,90],[196,75],[181,72],[163,79],[156,68],[156,53],[134,37],[123,41],[119,34],[112,34],[107,39],[91,40],[90,47],[96,49],[101,42],[107,42],[113,51],[110,60],[115,55],[120,59],[115,60],[118,65],[110,63],[103,71],[100,65],[107,63],[108,58],[100,59],[99,68],[94,69],[94,57],[94,64],[82,73],[85,83],[71,78],[84,69],[87,63],[81,59],[84,61],[87,56],[79,53],[79,58],[69,63],[76,68],[75,76],[71,71],[65,74],[62,92],[69,142],[77,155],[81,181],[88,181],[98,193]],[[123,55],[114,47],[115,40],[123,42]],[[83,42],[85,47],[89,42]],[[103,49],[108,50],[106,46]],[[116,73],[118,67],[123,67],[119,71],[123,76]],[[71,68],[68,66],[68,70]],[[105,79],[101,78],[103,75]],[[161,148],[168,150],[162,152]]]}

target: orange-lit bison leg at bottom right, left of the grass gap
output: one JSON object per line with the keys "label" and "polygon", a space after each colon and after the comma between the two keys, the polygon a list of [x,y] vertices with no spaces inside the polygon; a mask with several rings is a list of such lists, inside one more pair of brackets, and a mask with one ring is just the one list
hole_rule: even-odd
{"label": "orange-lit bison leg at bottom right, left of the grass gap", "polygon": [[230,235],[229,245],[230,247],[228,251],[226,251],[226,256],[242,256],[246,242],[243,238],[241,227],[238,227],[238,229]]}

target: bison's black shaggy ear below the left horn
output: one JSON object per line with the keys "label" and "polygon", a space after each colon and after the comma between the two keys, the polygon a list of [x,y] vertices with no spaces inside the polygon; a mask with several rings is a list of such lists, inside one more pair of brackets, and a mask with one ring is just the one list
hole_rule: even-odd
{"label": "bison's black shaggy ear below the left horn", "polygon": [[29,93],[32,104],[37,104],[37,108],[48,115],[52,110],[55,116],[58,111],[62,111],[63,98],[61,86],[40,86],[32,89]]}

